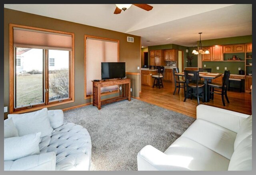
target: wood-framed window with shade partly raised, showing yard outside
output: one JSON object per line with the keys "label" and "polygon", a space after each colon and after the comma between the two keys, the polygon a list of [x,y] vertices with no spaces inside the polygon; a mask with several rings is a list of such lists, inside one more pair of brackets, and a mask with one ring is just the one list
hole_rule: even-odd
{"label": "wood-framed window with shade partly raised, showing yard outside", "polygon": [[74,102],[74,34],[10,29],[10,113]]}

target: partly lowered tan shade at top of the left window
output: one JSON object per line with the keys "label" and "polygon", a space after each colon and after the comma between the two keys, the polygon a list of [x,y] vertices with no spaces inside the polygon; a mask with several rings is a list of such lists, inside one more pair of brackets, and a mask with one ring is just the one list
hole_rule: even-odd
{"label": "partly lowered tan shade at top of the left window", "polygon": [[72,51],[72,36],[40,30],[14,28],[14,47]]}

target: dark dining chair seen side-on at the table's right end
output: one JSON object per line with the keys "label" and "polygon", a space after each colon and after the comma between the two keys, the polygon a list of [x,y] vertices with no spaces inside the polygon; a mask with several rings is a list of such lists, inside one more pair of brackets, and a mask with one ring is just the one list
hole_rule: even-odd
{"label": "dark dining chair seen side-on at the table's right end", "polygon": [[[224,76],[222,78],[222,84],[218,84],[218,83],[209,83],[208,84],[208,92],[209,92],[209,98],[214,98],[214,93],[215,94],[219,94],[221,95],[221,98],[222,98],[222,103],[223,105],[225,106],[225,100],[224,100],[224,95],[226,97],[226,100],[227,102],[229,103],[229,100],[228,100],[228,95],[227,95],[227,91],[228,91],[228,79],[230,77],[230,71],[226,71],[224,72]],[[218,88],[218,89],[221,89],[221,90],[218,90],[218,89],[214,89],[214,88]]]}

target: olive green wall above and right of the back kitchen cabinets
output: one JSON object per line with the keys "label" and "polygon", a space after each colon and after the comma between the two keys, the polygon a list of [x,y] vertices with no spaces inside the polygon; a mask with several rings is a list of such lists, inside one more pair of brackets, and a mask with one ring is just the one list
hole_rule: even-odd
{"label": "olive green wall above and right of the back kitchen cabinets", "polygon": [[[150,50],[164,50],[164,49],[177,49],[177,50],[182,50],[184,53],[184,68],[187,67],[187,55],[188,53],[186,52],[186,50],[188,49],[188,47],[186,46],[180,46],[177,44],[164,44],[164,45],[156,45],[156,46],[148,46],[148,52]],[[192,51],[191,51],[192,52]],[[148,54],[148,59],[149,59],[150,55]],[[196,66],[197,67],[197,66]]]}

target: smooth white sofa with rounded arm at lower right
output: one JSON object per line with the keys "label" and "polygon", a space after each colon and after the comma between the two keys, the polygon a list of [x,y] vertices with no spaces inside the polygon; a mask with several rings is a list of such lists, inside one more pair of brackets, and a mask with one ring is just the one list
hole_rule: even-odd
{"label": "smooth white sofa with rounded arm at lower right", "polygon": [[252,115],[198,105],[196,120],[166,151],[146,145],[138,170],[252,170]]}

